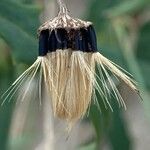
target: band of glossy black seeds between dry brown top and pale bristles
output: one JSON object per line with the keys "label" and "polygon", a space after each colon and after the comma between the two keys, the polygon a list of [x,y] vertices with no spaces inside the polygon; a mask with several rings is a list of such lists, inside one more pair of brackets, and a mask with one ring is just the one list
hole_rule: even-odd
{"label": "band of glossy black seeds between dry brown top and pale bristles", "polygon": [[42,30],[39,36],[39,56],[61,49],[97,52],[97,38],[92,25],[79,29]]}

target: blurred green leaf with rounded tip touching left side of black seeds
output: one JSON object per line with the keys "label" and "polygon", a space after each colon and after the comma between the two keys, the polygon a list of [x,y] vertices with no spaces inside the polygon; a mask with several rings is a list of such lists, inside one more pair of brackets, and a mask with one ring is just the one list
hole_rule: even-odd
{"label": "blurred green leaf with rounded tip touching left side of black seeds", "polygon": [[37,51],[37,41],[18,25],[0,17],[0,35],[12,48],[12,56],[18,62],[30,63]]}

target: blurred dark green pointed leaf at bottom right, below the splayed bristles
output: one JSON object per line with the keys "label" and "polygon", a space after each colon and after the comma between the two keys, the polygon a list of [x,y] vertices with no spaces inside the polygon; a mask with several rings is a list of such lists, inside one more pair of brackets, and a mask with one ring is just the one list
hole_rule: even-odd
{"label": "blurred dark green pointed leaf at bottom right, below the splayed bristles", "polygon": [[117,104],[115,105],[109,131],[110,145],[112,150],[131,150],[132,144],[122,111],[118,108]]}

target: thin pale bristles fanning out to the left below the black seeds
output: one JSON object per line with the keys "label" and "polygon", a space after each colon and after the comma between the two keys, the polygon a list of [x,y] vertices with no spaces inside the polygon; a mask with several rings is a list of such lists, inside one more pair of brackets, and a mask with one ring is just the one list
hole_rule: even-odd
{"label": "thin pale bristles fanning out to the left below the black seeds", "polygon": [[29,97],[29,95],[30,97],[34,97],[34,93],[38,96],[39,104],[41,104],[42,80],[45,68],[47,68],[48,65],[47,63],[45,57],[38,57],[37,60],[25,72],[23,72],[1,96],[1,106],[13,99],[15,99],[16,103],[23,102]]}

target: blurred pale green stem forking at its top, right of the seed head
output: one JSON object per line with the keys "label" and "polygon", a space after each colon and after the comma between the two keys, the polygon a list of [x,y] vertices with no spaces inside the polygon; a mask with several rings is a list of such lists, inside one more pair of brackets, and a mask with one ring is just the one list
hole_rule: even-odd
{"label": "blurred pale green stem forking at its top, right of the seed head", "polygon": [[[128,21],[129,20],[125,20],[125,23],[127,23]],[[149,95],[144,77],[142,76],[141,69],[135,56],[135,49],[137,45],[136,43],[138,40],[138,38],[135,37],[138,36],[138,27],[135,24],[132,24],[132,26],[128,26],[128,32],[126,30],[126,24],[124,24],[123,20],[121,18],[117,18],[113,20],[113,28],[115,30],[117,39],[119,41],[123,56],[127,62],[129,70],[140,84],[139,90],[141,92],[142,98],[144,99],[143,104],[145,107],[146,115],[148,115],[150,112]],[[148,115],[148,117],[150,118],[150,115]]]}

